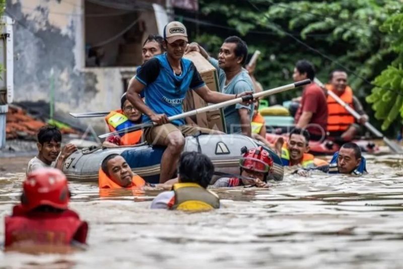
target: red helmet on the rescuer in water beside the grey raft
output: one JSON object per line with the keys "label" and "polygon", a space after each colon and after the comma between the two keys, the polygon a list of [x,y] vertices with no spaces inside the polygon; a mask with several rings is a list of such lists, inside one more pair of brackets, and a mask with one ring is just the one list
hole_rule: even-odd
{"label": "red helmet on the rescuer in water beside the grey raft", "polygon": [[267,150],[259,146],[245,152],[239,160],[239,166],[255,172],[268,173],[272,171],[273,158]]}

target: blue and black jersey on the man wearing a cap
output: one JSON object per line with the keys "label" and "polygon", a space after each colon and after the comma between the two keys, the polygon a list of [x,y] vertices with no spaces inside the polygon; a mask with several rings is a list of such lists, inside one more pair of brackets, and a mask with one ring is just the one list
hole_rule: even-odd
{"label": "blue and black jersey on the man wearing a cap", "polygon": [[[175,74],[164,53],[147,61],[137,73],[136,79],[146,86],[145,103],[156,114],[168,117],[181,114],[186,91],[206,85],[190,60],[182,58],[181,68],[182,73]],[[143,115],[144,123],[150,121]],[[184,123],[183,119],[172,121],[177,126]]]}

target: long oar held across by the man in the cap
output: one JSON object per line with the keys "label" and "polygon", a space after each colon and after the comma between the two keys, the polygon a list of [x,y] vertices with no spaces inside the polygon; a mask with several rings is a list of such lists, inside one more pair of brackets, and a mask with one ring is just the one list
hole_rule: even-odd
{"label": "long oar held across by the man in the cap", "polygon": [[[228,100],[228,101],[225,101],[225,102],[208,105],[208,106],[205,106],[205,107],[201,107],[200,109],[196,109],[196,110],[192,110],[192,111],[188,111],[188,112],[185,112],[185,113],[182,113],[182,114],[178,114],[178,115],[175,115],[175,116],[168,117],[168,121],[172,122],[174,120],[183,119],[185,117],[191,117],[191,116],[197,115],[199,113],[205,113],[205,112],[209,112],[209,111],[212,111],[212,110],[221,109],[221,107],[224,107],[224,106],[233,105],[233,104],[236,104],[236,103],[249,101],[249,100],[252,100],[252,99],[255,99],[255,98],[258,98],[258,97],[267,96],[267,95],[271,95],[271,94],[291,90],[291,89],[294,89],[296,87],[307,85],[309,83],[311,83],[311,81],[309,79],[306,79],[306,80],[302,80],[302,81],[299,81],[299,82],[284,85],[284,86],[281,86],[281,87],[273,88],[273,89],[270,89],[270,90],[254,93],[253,95],[245,95],[245,96],[233,99],[233,100]],[[153,127],[155,125],[157,125],[157,124],[154,123],[154,122],[146,122],[146,123],[139,124],[139,125],[136,125],[136,126],[128,127],[126,129],[122,129],[122,130],[117,131],[117,132],[112,132],[112,133],[106,133],[106,134],[103,134],[103,135],[99,135],[98,137],[99,138],[106,138],[106,137],[111,136],[111,135],[118,135],[118,134],[123,134],[123,133],[127,133],[127,132],[132,132],[132,131],[136,131],[136,130],[143,129],[143,128]]]}

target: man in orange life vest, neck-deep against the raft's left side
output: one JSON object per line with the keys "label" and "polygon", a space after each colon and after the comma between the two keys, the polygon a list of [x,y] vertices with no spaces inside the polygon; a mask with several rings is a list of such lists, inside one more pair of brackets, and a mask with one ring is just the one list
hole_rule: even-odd
{"label": "man in orange life vest, neck-deep against the raft's left side", "polygon": [[100,189],[121,189],[143,187],[146,182],[134,174],[119,154],[110,154],[103,161],[98,172]]}

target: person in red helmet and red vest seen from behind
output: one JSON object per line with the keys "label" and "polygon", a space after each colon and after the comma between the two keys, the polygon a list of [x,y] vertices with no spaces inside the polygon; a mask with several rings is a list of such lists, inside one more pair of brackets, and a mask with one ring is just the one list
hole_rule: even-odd
{"label": "person in red helmet and red vest seen from behind", "polygon": [[6,248],[85,244],[88,224],[68,208],[70,196],[61,171],[41,168],[28,174],[21,203],[5,218]]}

